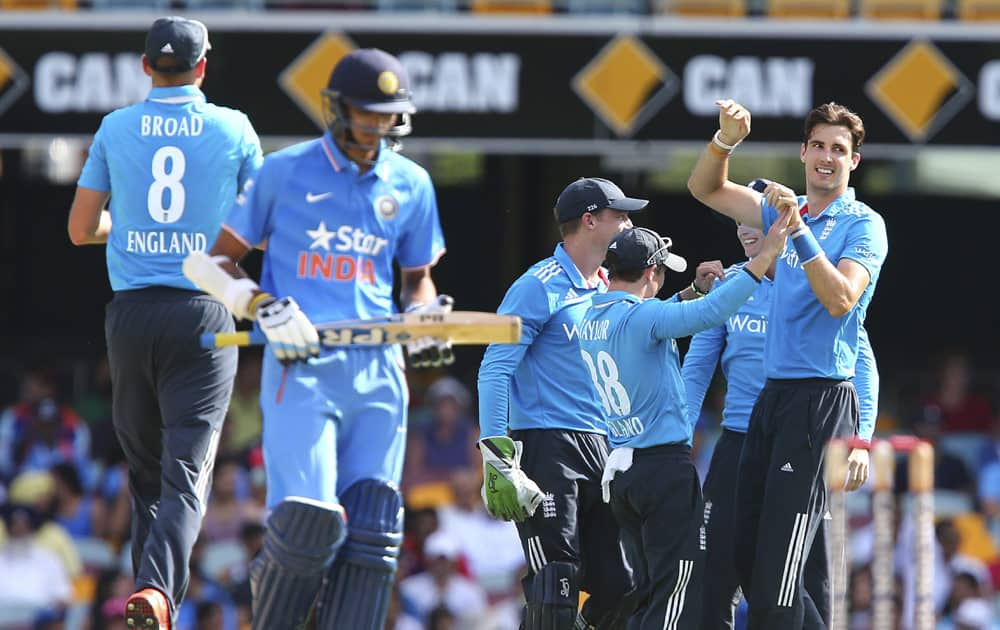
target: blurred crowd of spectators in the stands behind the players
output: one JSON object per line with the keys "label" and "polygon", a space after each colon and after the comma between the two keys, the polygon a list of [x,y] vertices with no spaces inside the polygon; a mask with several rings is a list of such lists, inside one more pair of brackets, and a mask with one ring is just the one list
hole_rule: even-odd
{"label": "blurred crowd of spectators in the stands behind the players", "polygon": [[[934,601],[938,629],[1000,628],[1000,413],[989,379],[964,352],[935,359],[934,378],[879,418],[878,436],[912,433],[935,445]],[[177,630],[248,628],[248,566],[263,541],[259,351],[245,350],[226,421],[192,580]],[[112,429],[103,362],[67,396],[53,366],[19,374],[0,401],[0,629],[116,630],[132,592],[127,471]],[[414,379],[405,537],[387,630],[503,630],[518,626],[524,558],[514,526],[490,518],[473,370]],[[721,384],[699,420],[704,472],[718,433]],[[889,407],[892,407],[889,405]],[[905,461],[897,466],[895,573],[900,628],[912,607],[913,530]],[[870,485],[870,484],[869,484]],[[852,630],[871,625],[868,488],[848,495]],[[739,627],[739,626],[738,626]]]}

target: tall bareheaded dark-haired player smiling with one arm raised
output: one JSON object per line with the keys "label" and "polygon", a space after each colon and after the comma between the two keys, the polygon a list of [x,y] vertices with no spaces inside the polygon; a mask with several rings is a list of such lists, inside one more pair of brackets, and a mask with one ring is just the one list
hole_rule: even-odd
{"label": "tall bareheaded dark-haired player smiling with one arm raised", "polygon": [[[750,133],[750,113],[733,101],[717,105],[720,129],[691,173],[691,193],[762,229],[795,210],[790,245],[775,269],[764,340],[767,380],[740,458],[736,568],[751,629],[825,628],[830,619],[808,596],[803,569],[827,511],[826,445],[859,429],[852,379],[888,252],[885,223],[848,187],[864,141],[857,114],[826,103],[806,116],[799,153],[806,194],[798,197],[775,182],[760,193],[728,180],[728,159]],[[867,452],[852,453],[849,468],[848,487],[864,483]]]}

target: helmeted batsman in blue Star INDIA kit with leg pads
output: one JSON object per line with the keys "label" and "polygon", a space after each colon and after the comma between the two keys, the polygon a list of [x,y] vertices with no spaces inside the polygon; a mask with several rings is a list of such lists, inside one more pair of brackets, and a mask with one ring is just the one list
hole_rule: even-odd
{"label": "helmeted batsman in blue Star INDIA kit with leg pads", "polygon": [[[212,247],[185,273],[268,339],[261,385],[270,516],[251,568],[253,627],[385,624],[402,541],[398,485],[408,390],[398,345],[321,349],[313,322],[446,311],[431,267],[444,253],[430,176],[394,149],[410,131],[399,61],[343,57],[323,92],[329,130],[267,156]],[[265,248],[260,284],[235,266]],[[282,296],[275,298],[274,296]],[[417,365],[451,360],[416,340]],[[349,524],[348,524],[349,523]]]}

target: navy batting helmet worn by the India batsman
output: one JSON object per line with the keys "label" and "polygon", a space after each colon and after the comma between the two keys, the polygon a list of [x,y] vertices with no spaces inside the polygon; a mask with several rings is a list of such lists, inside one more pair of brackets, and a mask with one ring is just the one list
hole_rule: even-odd
{"label": "navy batting helmet worn by the India batsman", "polygon": [[337,62],[327,90],[351,105],[380,114],[414,114],[410,101],[410,78],[389,53],[378,48],[359,48]]}

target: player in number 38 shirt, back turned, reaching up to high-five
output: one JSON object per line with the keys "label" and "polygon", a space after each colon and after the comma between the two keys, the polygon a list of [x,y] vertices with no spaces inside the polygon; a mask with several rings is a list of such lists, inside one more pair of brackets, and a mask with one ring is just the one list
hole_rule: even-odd
{"label": "player in number 38 shirt, back turned, reaching up to high-five", "polygon": [[687,269],[669,239],[633,228],[608,247],[611,286],[594,297],[578,338],[614,447],[602,490],[621,526],[640,594],[630,629],[700,627],[701,483],[691,460],[694,426],[676,340],[736,312],[784,247],[786,231],[776,223],[757,261],[693,301],[680,295],[651,299],[663,288],[667,269]]}

